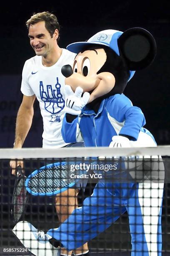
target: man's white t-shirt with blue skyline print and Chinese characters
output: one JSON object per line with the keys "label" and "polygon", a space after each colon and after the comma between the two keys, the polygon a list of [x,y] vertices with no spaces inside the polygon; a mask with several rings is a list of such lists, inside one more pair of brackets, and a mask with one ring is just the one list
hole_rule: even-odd
{"label": "man's white t-shirt with blue skyline print and Chinese characters", "polygon": [[65,106],[65,77],[62,66],[72,66],[75,54],[62,49],[60,59],[51,67],[42,64],[42,56],[34,56],[25,61],[21,92],[23,95],[35,95],[40,102],[43,119],[42,147],[60,148],[67,145],[62,139],[61,126]]}

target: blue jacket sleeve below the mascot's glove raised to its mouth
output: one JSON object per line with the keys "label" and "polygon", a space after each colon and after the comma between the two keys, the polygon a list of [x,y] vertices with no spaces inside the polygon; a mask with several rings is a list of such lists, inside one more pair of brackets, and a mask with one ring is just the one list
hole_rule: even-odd
{"label": "blue jacket sleeve below the mascot's glove raised to its mouth", "polygon": [[62,138],[66,143],[81,142],[82,136],[79,128],[80,118],[77,116],[72,123],[68,123],[66,115],[62,120],[61,134]]}

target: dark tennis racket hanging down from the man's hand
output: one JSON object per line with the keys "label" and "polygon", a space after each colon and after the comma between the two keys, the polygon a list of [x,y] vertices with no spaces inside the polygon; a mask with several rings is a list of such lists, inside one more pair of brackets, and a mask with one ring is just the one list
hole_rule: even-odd
{"label": "dark tennis racket hanging down from the man's hand", "polygon": [[25,207],[28,203],[28,192],[25,188],[25,179],[20,167],[17,167],[13,198],[11,203],[11,215],[15,222],[18,222],[23,215]]}

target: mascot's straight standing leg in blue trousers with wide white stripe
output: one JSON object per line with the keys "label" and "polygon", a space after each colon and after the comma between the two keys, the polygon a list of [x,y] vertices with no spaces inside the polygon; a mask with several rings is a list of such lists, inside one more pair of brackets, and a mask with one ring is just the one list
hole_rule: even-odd
{"label": "mascot's straight standing leg in blue trousers with wide white stripe", "polygon": [[161,256],[163,184],[138,184],[128,200],[132,256]]}

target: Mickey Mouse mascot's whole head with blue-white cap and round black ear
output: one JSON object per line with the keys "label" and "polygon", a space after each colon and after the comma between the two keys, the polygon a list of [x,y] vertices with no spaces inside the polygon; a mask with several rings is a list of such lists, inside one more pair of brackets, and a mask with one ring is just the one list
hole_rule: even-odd
{"label": "Mickey Mouse mascot's whole head with blue-white cap and round black ear", "polygon": [[67,49],[78,54],[73,67],[65,65],[61,69],[65,84],[73,91],[80,86],[83,92],[90,92],[90,103],[97,98],[121,94],[135,70],[152,63],[156,43],[145,29],[130,28],[124,33],[100,31],[87,42],[70,44]]}

